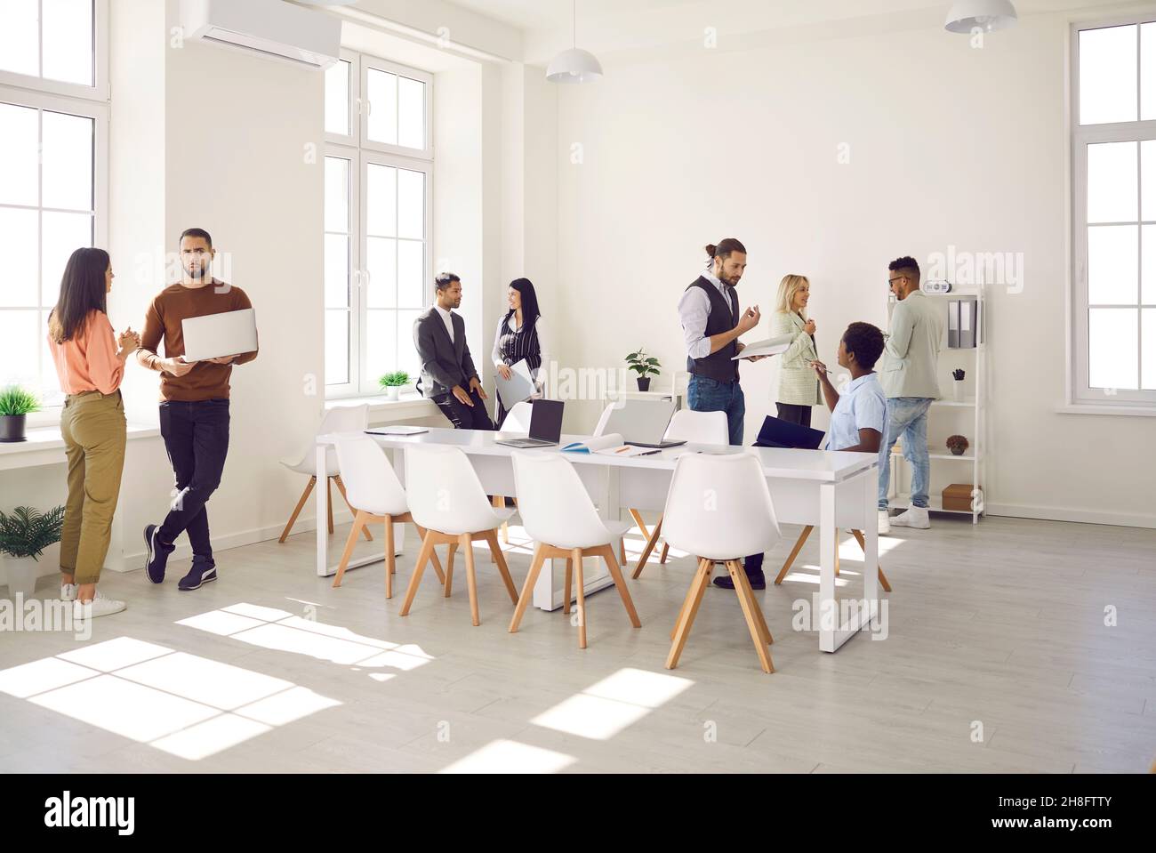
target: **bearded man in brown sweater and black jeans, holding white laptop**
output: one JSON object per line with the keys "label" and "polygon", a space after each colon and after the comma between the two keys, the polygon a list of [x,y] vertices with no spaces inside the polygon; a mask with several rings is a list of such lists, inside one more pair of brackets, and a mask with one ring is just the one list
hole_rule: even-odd
{"label": "bearded man in brown sweater and black jeans, holding white laptop", "polygon": [[[203,362],[185,362],[181,321],[252,307],[240,288],[212,277],[213,238],[191,228],[180,235],[180,282],[162,290],[144,316],[138,361],[161,373],[161,436],[176,475],[176,498],[161,525],[144,528],[144,572],[154,584],[164,580],[165,564],[184,531],[193,549],[193,565],[177,585],[197,589],[216,580],[205,504],[221,484],[229,451],[229,377],[235,364],[257,358],[257,350]],[[164,357],[157,348],[164,340]]]}

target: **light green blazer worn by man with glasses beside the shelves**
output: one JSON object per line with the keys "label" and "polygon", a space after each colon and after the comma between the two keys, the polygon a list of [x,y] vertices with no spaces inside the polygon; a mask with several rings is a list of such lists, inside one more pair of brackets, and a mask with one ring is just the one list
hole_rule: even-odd
{"label": "light green blazer worn by man with glasses beside the shelves", "polygon": [[939,399],[939,351],[943,339],[942,305],[921,290],[895,303],[883,347],[879,383],[888,399]]}

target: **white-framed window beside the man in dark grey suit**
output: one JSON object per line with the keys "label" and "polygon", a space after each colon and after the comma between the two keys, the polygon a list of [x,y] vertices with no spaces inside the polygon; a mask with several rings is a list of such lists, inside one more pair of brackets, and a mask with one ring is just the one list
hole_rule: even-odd
{"label": "white-framed window beside the man in dark grey suit", "polygon": [[429,305],[433,79],[342,52],[325,80],[325,384],[380,392],[420,364],[413,324]]}

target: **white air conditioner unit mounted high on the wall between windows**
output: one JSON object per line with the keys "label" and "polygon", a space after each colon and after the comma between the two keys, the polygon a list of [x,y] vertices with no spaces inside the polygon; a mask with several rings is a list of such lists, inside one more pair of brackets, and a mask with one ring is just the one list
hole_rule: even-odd
{"label": "white air conditioner unit mounted high on the wall between windows", "polygon": [[281,0],[180,0],[184,37],[309,68],[341,52],[341,21]]}

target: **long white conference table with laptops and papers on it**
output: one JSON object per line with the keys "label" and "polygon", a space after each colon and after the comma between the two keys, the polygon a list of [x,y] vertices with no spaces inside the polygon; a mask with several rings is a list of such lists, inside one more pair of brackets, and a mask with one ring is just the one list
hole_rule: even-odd
{"label": "long white conference table with laptops and papers on it", "polygon": [[[361,433],[358,433],[361,435]],[[496,444],[499,433],[481,430],[454,430],[431,426],[416,436],[371,436],[390,452],[393,468],[405,483],[407,447],[437,444],[459,447],[469,458],[487,495],[516,497],[513,482],[514,448]],[[511,436],[512,437],[512,436]],[[561,453],[560,447],[579,442],[586,436],[563,436],[558,447],[546,452]],[[334,436],[317,437],[317,479],[326,476],[326,450],[334,444]],[[820,535],[820,583],[817,611],[812,611],[812,626],[818,626],[818,647],[835,652],[858,631],[869,628],[879,614],[879,528],[876,506],[879,499],[879,454],[847,453],[843,451],[808,451],[777,447],[719,447],[717,445],[687,444],[655,454],[623,459],[602,454],[565,453],[578,472],[586,490],[599,507],[602,518],[618,519],[627,510],[657,510],[666,505],[666,494],[674,466],[683,453],[754,453],[763,465],[775,512],[780,524],[814,525]],[[326,489],[316,489],[317,518],[328,512]],[[859,529],[865,539],[861,600],[844,602],[847,618],[839,614],[836,599],[836,531]],[[397,547],[403,549],[405,526],[397,531]],[[349,568],[383,562],[383,556],[353,559]],[[543,571],[534,587],[533,602],[543,610],[562,607],[565,561],[551,561],[550,571]],[[601,561],[600,571],[586,574],[586,594],[609,586],[613,580]],[[868,569],[869,568],[869,569]],[[654,568],[652,566],[652,571]],[[336,572],[329,565],[326,526],[317,526],[317,573],[329,577]],[[686,580],[690,583],[691,572]]]}

